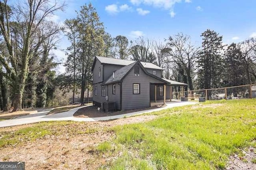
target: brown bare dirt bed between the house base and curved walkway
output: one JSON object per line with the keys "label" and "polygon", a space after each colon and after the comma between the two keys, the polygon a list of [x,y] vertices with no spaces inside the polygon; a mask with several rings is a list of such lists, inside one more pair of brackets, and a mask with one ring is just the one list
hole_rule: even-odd
{"label": "brown bare dirt bed between the house base and curved walkway", "polygon": [[149,109],[156,109],[159,107],[163,107],[162,105],[159,106],[153,106],[153,107],[148,107],[148,108],[143,108],[143,109],[131,109],[131,110],[125,110],[125,111],[115,111],[115,112],[103,112],[103,111],[98,111],[98,107],[96,106],[88,106],[79,109],[74,113],[74,117],[83,117],[83,118],[88,118],[88,117],[105,117],[105,116],[114,116],[114,115],[122,115],[126,113],[132,113],[132,112],[138,112],[138,111],[144,111],[144,110],[149,110]]}

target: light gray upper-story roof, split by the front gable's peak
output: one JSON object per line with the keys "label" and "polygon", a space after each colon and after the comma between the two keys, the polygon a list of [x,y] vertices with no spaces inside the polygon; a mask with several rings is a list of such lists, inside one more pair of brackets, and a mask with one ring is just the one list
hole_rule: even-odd
{"label": "light gray upper-story roof, split by the front gable's peak", "polygon": [[[97,59],[101,62],[101,63],[104,63],[104,64],[116,64],[116,65],[129,65],[131,63],[134,63],[134,61],[130,61],[130,60],[124,60],[124,59],[116,59],[116,58],[108,58],[108,57],[99,57],[99,56],[96,56]],[[143,67],[145,68],[150,68],[150,69],[161,69],[161,70],[164,70],[162,69],[161,67],[158,67],[157,65],[155,64],[152,64],[152,63],[145,63],[145,62],[140,62]]]}

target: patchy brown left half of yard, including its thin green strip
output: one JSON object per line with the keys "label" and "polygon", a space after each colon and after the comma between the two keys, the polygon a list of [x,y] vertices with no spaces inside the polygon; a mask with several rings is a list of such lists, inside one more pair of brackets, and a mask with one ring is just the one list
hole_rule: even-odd
{"label": "patchy brown left half of yard, including its thin green strip", "polygon": [[[26,170],[97,169],[106,162],[98,153],[109,150],[108,141],[115,136],[112,127],[156,117],[143,115],[101,122],[57,121],[0,128],[0,161],[24,161]],[[98,147],[105,141],[105,145]]]}

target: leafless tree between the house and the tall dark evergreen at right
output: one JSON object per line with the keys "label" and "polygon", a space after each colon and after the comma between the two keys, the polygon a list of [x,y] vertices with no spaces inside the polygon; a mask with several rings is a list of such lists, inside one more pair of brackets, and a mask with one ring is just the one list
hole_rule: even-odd
{"label": "leafless tree between the house and the tall dark evergreen at right", "polygon": [[172,56],[172,60],[184,69],[188,79],[188,87],[190,90],[193,90],[196,53],[200,47],[196,47],[192,44],[190,37],[182,33],[179,33],[174,37],[170,36],[167,45],[171,49],[170,55]]}

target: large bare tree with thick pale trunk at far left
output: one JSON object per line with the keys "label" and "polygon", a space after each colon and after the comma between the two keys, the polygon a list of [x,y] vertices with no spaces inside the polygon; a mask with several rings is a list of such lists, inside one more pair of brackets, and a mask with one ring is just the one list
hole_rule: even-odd
{"label": "large bare tree with thick pale trunk at far left", "polygon": [[[6,70],[6,77],[10,79],[14,95],[14,109],[22,109],[22,96],[24,92],[26,78],[28,76],[28,61],[32,57],[31,48],[38,28],[47,17],[57,10],[61,10],[64,4],[58,5],[50,3],[49,0],[28,0],[25,4],[16,4],[9,9],[7,0],[0,1],[0,30],[4,39],[7,53],[0,53],[0,63]],[[49,5],[52,4],[52,5]],[[22,30],[20,37],[21,51],[16,51],[11,32],[11,22],[15,22],[19,30]]]}

